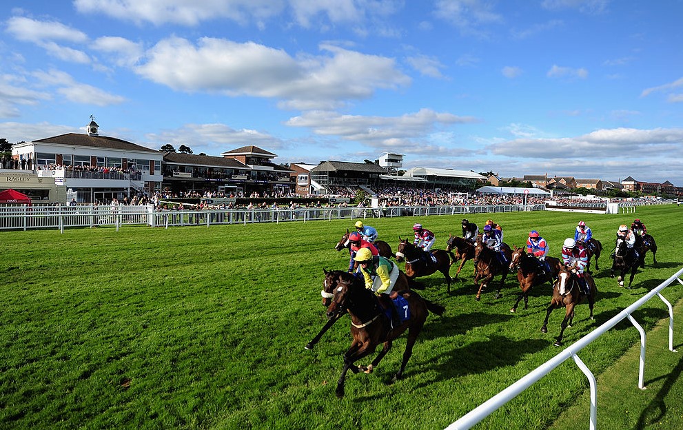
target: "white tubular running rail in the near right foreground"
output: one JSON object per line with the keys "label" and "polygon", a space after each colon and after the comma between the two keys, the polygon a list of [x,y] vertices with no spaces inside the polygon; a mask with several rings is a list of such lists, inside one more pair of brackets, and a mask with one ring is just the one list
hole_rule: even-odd
{"label": "white tubular running rail in the near right foreground", "polygon": [[[547,362],[544,362],[542,365],[540,365],[533,371],[529,372],[527,376],[524,376],[524,378],[518,380],[513,385],[510,385],[503,391],[500,391],[500,393],[496,394],[496,396],[493,396],[486,402],[482,403],[482,405],[476,407],[475,409],[467,413],[465,416],[457,420],[456,422],[453,422],[451,425],[447,427],[447,430],[465,430],[471,428],[473,425],[477,424],[487,416],[491,415],[491,413],[505,405],[507,402],[515,398],[519,393],[531,387],[533,383],[540,380],[540,378],[546,376],[553,369],[555,369],[555,367],[558,367],[564,361],[569,360],[569,358],[572,358],[574,362],[576,362],[576,365],[579,367],[579,369],[581,369],[581,371],[589,379],[589,385],[591,389],[591,416],[589,428],[591,430],[595,430],[598,417],[597,382],[595,380],[595,376],[593,376],[593,373],[578,357],[578,351],[589,345],[589,343],[593,342],[593,340],[600,337],[602,334],[604,334],[606,331],[620,323],[625,318],[628,318],[628,320],[631,321],[635,328],[638,329],[638,331],[640,332],[640,371],[638,372],[638,388],[644,389],[643,380],[645,372],[645,331],[642,329],[642,327],[640,327],[640,324],[638,324],[638,322],[633,318],[633,316],[631,316],[631,314],[633,314],[633,311],[644,305],[644,303],[646,303],[654,296],[658,296],[660,299],[662,299],[662,301],[666,303],[666,306],[669,307],[669,351],[676,352],[676,350],[673,349],[673,307],[671,307],[671,303],[669,303],[669,301],[666,300],[664,296],[662,296],[662,294],[660,294],[660,291],[662,291],[662,289],[668,287],[669,285],[673,284],[675,281],[678,281],[680,284],[683,285],[683,280],[681,280],[680,278],[680,276],[682,275],[683,269],[680,269],[678,272],[676,272],[676,274],[671,276],[671,278],[665,280],[655,289],[653,289],[648,294],[640,298],[640,300],[633,303],[633,305],[627,307],[619,314],[611,318],[609,321],[607,321],[600,327],[596,328],[595,330],[591,331],[590,334],[584,336],[573,345],[569,345],[569,347],[564,349],[564,351],[560,352],[560,354],[551,358]],[[579,424],[577,424],[577,426],[580,427]]]}

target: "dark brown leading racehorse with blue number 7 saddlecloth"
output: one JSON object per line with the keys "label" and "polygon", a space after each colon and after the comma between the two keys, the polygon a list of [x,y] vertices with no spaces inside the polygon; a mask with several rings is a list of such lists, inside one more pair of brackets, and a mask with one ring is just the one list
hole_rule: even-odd
{"label": "dark brown leading racehorse with blue number 7 saddlecloth", "polygon": [[[401,367],[392,381],[399,380],[403,376],[405,365],[413,353],[413,345],[415,345],[422,326],[425,325],[429,311],[442,315],[446,310],[445,307],[420,297],[415,291],[406,291],[401,295],[407,300],[407,309],[403,308],[401,313],[405,313],[404,316],[409,316],[409,318],[402,320],[400,325],[392,329],[391,321],[387,318],[375,294],[366,289],[361,280],[355,278],[354,280],[340,280],[337,283],[332,303],[327,308],[327,316],[334,318],[339,309],[346,309],[351,316],[351,336],[354,338],[351,341],[351,346],[344,354],[344,367],[336,388],[338,398],[344,396],[344,382],[349,369],[354,373],[359,371],[372,373],[374,367],[379,365],[380,360],[391,349],[394,339],[407,330],[408,340],[403,352]],[[356,360],[372,354],[380,343],[384,343],[384,347],[370,365],[367,367],[354,365]]]}

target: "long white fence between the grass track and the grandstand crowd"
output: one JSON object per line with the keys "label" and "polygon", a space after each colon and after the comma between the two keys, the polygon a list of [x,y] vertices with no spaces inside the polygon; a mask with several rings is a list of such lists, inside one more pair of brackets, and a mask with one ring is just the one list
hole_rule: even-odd
{"label": "long white fence between the grass track and the grandstand crowd", "polygon": [[18,206],[0,207],[0,230],[60,229],[72,227],[116,227],[150,225],[218,225],[283,223],[289,221],[331,221],[333,219],[384,218],[396,216],[481,214],[543,210],[544,205],[491,206],[392,206],[380,209],[363,207],[302,207],[299,209],[212,209],[156,211],[147,206]]}

